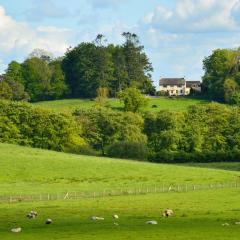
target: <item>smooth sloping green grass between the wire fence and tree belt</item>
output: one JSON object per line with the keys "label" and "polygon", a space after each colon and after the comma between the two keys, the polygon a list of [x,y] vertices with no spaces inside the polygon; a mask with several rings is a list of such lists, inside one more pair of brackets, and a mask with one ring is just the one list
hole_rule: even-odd
{"label": "smooth sloping green grass between the wire fence and tree belt", "polygon": [[0,144],[1,194],[56,193],[235,181],[237,171],[79,156]]}

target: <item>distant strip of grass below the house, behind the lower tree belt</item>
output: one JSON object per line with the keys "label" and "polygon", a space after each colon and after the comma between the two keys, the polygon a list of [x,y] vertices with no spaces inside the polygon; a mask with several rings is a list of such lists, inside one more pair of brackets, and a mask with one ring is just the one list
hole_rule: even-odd
{"label": "distant strip of grass below the house, behind the lower tree belt", "polygon": [[[148,106],[144,109],[147,111],[159,111],[163,109],[169,110],[185,110],[187,107],[195,104],[204,104],[207,103],[207,100],[196,99],[196,98],[150,98]],[[69,112],[76,108],[90,108],[94,106],[95,102],[88,99],[65,99],[65,100],[56,100],[56,101],[45,101],[35,103],[37,106],[45,107],[48,109],[53,109],[56,111],[65,111]],[[123,104],[116,99],[109,100],[109,105],[113,109],[121,110]],[[152,106],[156,105],[157,107],[153,108]]]}

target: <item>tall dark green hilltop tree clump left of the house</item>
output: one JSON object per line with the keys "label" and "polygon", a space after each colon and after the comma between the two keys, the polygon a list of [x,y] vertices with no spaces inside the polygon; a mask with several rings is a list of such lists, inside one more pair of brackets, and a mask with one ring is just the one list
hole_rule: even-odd
{"label": "tall dark green hilltop tree clump left of the house", "polygon": [[109,96],[115,97],[128,87],[153,94],[153,68],[144,47],[136,34],[122,36],[122,45],[107,44],[99,34],[57,59],[37,49],[23,63],[12,61],[0,82],[0,98],[32,102],[95,98],[99,88],[107,88]]}

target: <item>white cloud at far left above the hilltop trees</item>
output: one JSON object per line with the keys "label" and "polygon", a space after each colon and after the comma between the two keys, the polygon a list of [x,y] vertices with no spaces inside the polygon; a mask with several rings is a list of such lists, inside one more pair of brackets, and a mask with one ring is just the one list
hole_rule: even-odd
{"label": "white cloud at far left above the hilltop trees", "polygon": [[0,6],[0,52],[21,52],[25,55],[34,48],[43,48],[54,54],[62,54],[68,47],[67,29],[51,26],[31,28],[27,23],[17,22]]}

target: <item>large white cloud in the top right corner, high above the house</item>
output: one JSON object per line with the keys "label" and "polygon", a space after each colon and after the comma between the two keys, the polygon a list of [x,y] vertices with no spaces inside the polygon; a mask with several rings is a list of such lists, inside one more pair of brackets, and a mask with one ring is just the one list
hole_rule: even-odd
{"label": "large white cloud in the top right corner, high above the house", "polygon": [[237,31],[239,10],[239,0],[179,0],[173,9],[159,5],[144,22],[175,33]]}

